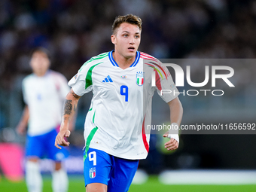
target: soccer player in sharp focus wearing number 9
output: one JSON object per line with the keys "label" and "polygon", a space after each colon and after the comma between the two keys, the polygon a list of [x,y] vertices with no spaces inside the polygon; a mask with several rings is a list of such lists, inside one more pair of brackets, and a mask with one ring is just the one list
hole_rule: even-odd
{"label": "soccer player in sharp focus wearing number 9", "polygon": [[[62,123],[55,146],[68,146],[69,120],[78,100],[93,91],[84,124],[84,181],[87,192],[128,191],[139,160],[148,155],[151,101],[154,91],[178,93],[172,78],[159,60],[138,51],[142,20],[129,14],[119,16],[112,26],[114,50],[92,57],[70,81]],[[151,76],[155,73],[156,86]],[[161,95],[161,94],[160,94]],[[163,94],[171,112],[171,123],[181,123],[183,109],[177,94]],[[169,137],[166,150],[178,148],[178,134]]]}

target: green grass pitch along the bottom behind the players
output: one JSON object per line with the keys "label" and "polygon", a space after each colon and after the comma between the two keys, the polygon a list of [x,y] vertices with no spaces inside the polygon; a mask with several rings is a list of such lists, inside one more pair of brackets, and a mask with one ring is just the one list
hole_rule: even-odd
{"label": "green grass pitch along the bottom behind the players", "polygon": [[[1,192],[25,192],[25,181],[11,182],[6,178],[0,179]],[[52,191],[50,177],[44,177],[43,192]],[[82,176],[69,176],[69,192],[85,191],[84,180]],[[160,184],[157,176],[150,176],[145,184],[132,184],[129,192],[252,192],[256,191],[256,185],[165,185]]]}

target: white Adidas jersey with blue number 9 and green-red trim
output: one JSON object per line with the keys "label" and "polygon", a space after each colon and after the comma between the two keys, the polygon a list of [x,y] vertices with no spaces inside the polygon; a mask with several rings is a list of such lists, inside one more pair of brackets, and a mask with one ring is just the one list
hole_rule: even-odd
{"label": "white Adidas jersey with blue number 9 and green-red trim", "polygon": [[[150,136],[145,124],[151,121],[154,91],[178,90],[168,70],[154,57],[137,51],[133,64],[120,69],[112,53],[92,57],[69,81],[78,96],[93,91],[84,123],[85,150],[90,147],[124,159],[145,159]],[[153,71],[160,72],[156,87],[151,87]],[[176,96],[162,97],[169,102]]]}

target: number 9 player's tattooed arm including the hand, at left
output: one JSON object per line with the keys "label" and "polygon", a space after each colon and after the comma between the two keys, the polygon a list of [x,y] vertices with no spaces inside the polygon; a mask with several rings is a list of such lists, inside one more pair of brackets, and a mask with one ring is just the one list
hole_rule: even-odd
{"label": "number 9 player's tattooed arm including the hand, at left", "polygon": [[69,123],[75,114],[76,108],[78,106],[78,100],[81,96],[78,96],[71,89],[66,96],[66,100],[63,106],[62,122],[60,124],[59,133],[55,139],[55,147],[61,149],[59,145],[69,146],[69,142],[65,141],[65,137],[69,137]]}

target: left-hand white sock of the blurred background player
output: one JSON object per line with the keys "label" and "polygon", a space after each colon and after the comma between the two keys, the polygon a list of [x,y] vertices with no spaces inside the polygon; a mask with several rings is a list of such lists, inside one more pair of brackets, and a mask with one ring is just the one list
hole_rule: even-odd
{"label": "left-hand white sock of the blurred background player", "polygon": [[39,163],[27,161],[26,162],[26,186],[29,192],[42,191],[42,178],[39,168]]}

